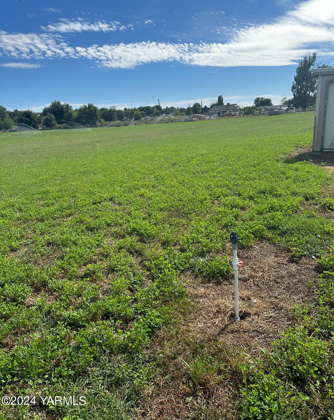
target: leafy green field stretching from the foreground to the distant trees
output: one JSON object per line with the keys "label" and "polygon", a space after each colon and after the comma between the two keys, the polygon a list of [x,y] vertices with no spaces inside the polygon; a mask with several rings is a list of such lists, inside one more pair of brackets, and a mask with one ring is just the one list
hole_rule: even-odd
{"label": "leafy green field stretching from the foreground to the distant trees", "polygon": [[[184,417],[170,418],[334,418],[334,223],[319,215],[334,210],[332,179],[286,159],[311,144],[313,123],[300,113],[0,138],[1,394],[36,396],[0,418],[154,418],[170,371],[150,343],[161,328],[172,340],[195,310],[185,273],[232,281],[231,230],[241,247],[265,239],[318,260],[317,310],[296,309],[297,329],[262,362],[232,368],[219,340],[192,343],[179,355]],[[227,384],[226,412],[203,375]],[[40,402],[62,395],[87,404]]]}

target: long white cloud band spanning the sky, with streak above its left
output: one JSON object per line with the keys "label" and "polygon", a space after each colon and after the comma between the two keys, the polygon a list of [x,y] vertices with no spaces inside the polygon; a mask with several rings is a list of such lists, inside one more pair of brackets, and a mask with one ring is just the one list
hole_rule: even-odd
{"label": "long white cloud band spanning the sky, with streak above its left", "polygon": [[334,55],[333,22],[334,2],[309,0],[274,23],[250,25],[234,31],[233,38],[225,43],[147,41],[72,47],[64,42],[59,32],[106,32],[122,29],[122,26],[119,22],[90,24],[84,20],[63,19],[44,28],[52,33],[8,34],[0,31],[0,53],[15,58],[85,58],[107,68],[134,68],[161,61],[213,67],[287,66],[298,62],[315,46],[321,48],[322,55]]}

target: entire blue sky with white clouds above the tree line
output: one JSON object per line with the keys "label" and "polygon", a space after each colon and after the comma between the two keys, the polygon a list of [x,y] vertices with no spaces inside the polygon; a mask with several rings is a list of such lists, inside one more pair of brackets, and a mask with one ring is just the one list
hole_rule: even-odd
{"label": "entire blue sky with white clouds above the tree line", "polygon": [[0,104],[41,110],[251,105],[291,96],[298,59],[334,66],[334,1],[3,0]]}

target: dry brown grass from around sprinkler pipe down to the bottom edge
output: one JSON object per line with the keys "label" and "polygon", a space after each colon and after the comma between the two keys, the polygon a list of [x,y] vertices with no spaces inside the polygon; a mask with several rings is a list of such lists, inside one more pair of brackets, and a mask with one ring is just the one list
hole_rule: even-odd
{"label": "dry brown grass from around sprinkler pipe down to the bottom edge", "polygon": [[[228,255],[233,256],[232,247]],[[293,325],[293,305],[315,302],[310,281],[318,276],[316,261],[292,260],[288,252],[267,242],[239,250],[238,258],[243,261],[240,273],[246,277],[239,281],[241,321],[234,322],[233,276],[222,282],[207,283],[185,275],[194,310],[179,331],[171,333],[163,329],[153,340],[150,351],[156,352],[167,365],[168,373],[162,374],[148,391],[134,418],[209,419],[213,415],[211,418],[235,419],[231,382],[234,366],[238,364],[238,347],[259,357],[262,349],[270,349],[272,341]],[[256,304],[249,305],[250,299],[256,300]],[[182,359],[189,360],[196,350],[208,349],[212,343],[220,352],[223,349],[220,354],[226,349],[230,376],[226,380],[215,380],[215,375],[205,378],[207,383],[186,404],[190,391],[185,383],[188,372]]]}

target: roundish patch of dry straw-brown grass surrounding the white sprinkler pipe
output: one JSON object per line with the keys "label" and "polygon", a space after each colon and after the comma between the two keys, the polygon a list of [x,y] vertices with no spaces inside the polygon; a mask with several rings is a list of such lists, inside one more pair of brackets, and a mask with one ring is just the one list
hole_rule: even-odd
{"label": "roundish patch of dry straw-brown grass surrounding the white sprinkler pipe", "polygon": [[[232,249],[228,255],[233,257]],[[239,281],[239,314],[234,322],[234,279],[221,284],[203,284],[188,276],[188,291],[199,310],[191,315],[194,332],[210,334],[232,346],[242,346],[252,354],[269,348],[294,322],[293,305],[315,302],[309,285],[318,276],[316,262],[311,258],[291,260],[288,252],[262,242],[238,251],[246,278]],[[250,299],[256,300],[255,305]]]}

